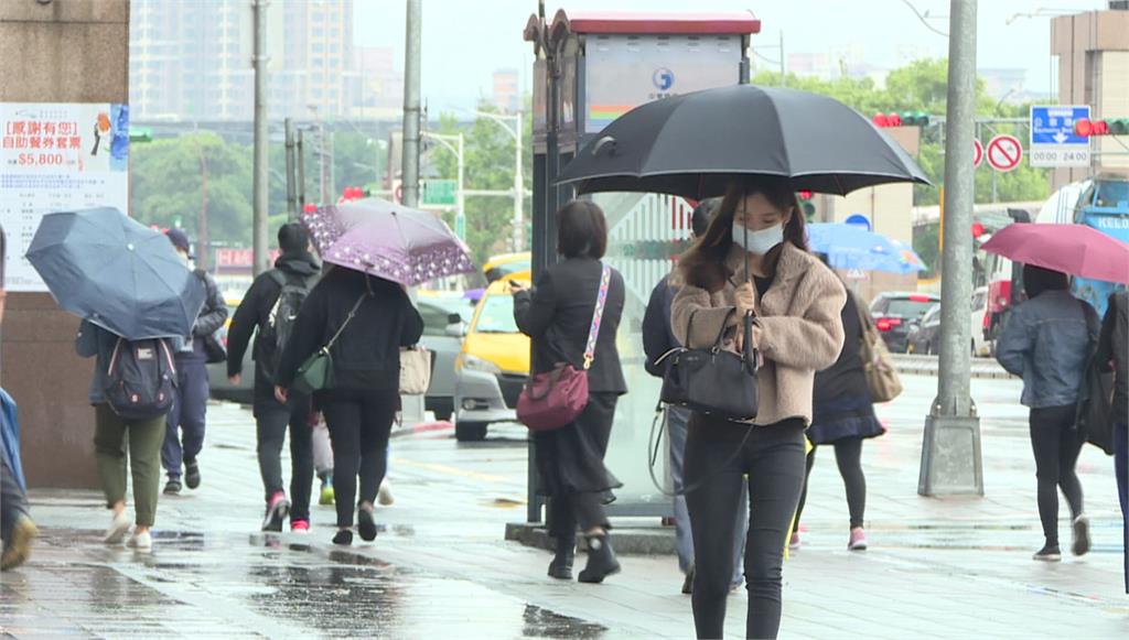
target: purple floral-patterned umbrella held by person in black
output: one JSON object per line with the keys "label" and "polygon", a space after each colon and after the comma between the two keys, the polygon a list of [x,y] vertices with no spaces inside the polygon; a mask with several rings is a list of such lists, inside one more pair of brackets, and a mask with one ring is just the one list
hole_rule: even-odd
{"label": "purple floral-patterned umbrella held by person in black", "polygon": [[470,249],[438,216],[378,198],[304,213],[325,262],[415,286],[474,271]]}

